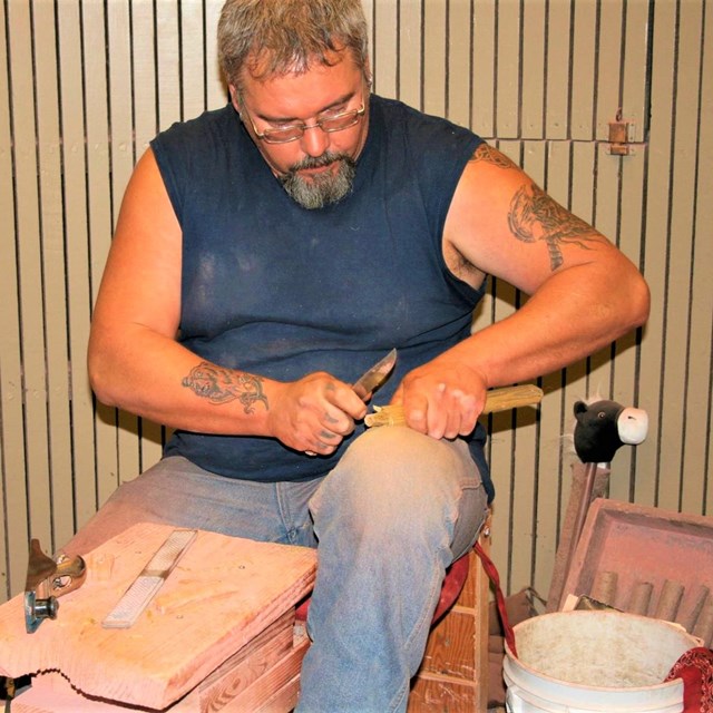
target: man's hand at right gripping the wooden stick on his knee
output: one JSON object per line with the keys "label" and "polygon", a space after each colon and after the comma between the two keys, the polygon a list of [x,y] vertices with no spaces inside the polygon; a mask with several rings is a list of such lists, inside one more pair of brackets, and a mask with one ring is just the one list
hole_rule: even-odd
{"label": "man's hand at right gripping the wooden stick on his knee", "polygon": [[486,379],[456,356],[442,354],[406,375],[391,403],[407,424],[432,438],[468,436],[485,406]]}

